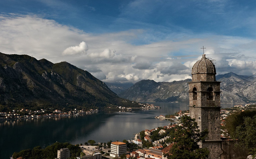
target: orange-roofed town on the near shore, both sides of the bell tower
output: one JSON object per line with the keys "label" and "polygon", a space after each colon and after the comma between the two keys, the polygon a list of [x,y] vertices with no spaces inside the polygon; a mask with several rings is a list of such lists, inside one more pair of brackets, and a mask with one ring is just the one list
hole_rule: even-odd
{"label": "orange-roofed town on the near shore, both sides of the bell tower", "polygon": [[[152,105],[143,106],[152,107]],[[221,126],[225,125],[225,119],[230,114],[255,109],[255,104],[235,105],[232,108],[221,109]],[[173,115],[156,116],[156,119],[170,120],[173,123],[150,130],[143,130],[140,133],[135,134],[135,137],[132,138],[132,140],[123,140],[122,142],[110,141],[108,143],[98,144],[90,144],[87,142],[85,144],[81,143],[79,147],[82,152],[80,156],[76,157],[76,159],[112,159],[117,157],[122,159],[167,159],[166,154],[169,153],[169,150],[173,146],[173,143],[170,142],[170,133],[176,129],[176,125],[182,125],[179,119],[185,115],[189,116],[188,110],[178,111]],[[156,134],[158,136],[157,138]],[[225,133],[224,128],[222,128],[221,137],[226,139],[230,138],[230,136]],[[58,150],[58,156],[56,159],[67,159],[69,157],[70,150],[68,148],[62,148]]]}

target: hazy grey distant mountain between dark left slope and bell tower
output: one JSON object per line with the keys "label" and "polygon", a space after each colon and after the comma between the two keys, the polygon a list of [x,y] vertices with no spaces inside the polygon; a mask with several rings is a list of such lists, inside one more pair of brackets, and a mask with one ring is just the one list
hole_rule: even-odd
{"label": "hazy grey distant mountain between dark left slope and bell tower", "polygon": [[141,80],[120,94],[120,97],[133,101],[147,102],[188,102],[188,84],[191,79],[173,82]]}

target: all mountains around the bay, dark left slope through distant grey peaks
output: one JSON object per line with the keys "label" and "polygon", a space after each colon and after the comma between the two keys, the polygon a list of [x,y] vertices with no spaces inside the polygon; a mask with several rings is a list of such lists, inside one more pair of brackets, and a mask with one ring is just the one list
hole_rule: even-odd
{"label": "all mountains around the bay, dark left slope through distant grey peaks", "polygon": [[[222,81],[222,103],[256,101],[255,77],[230,72],[217,75],[216,80]],[[137,106],[131,101],[188,102],[189,81],[105,83],[68,62],[54,64],[28,55],[0,53],[0,107],[102,108]]]}

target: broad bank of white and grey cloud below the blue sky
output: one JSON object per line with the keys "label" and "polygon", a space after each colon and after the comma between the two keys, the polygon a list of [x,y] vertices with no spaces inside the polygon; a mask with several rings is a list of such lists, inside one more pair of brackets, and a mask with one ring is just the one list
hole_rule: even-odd
{"label": "broad bank of white and grey cloud below the blue sky", "polygon": [[0,28],[0,52],[33,55],[53,63],[67,61],[106,82],[191,78],[192,66],[202,57],[202,45],[206,56],[216,60],[217,74],[251,75],[256,70],[256,40],[251,38],[173,33],[170,39],[133,44],[147,31],[94,35],[24,15],[2,15]]}

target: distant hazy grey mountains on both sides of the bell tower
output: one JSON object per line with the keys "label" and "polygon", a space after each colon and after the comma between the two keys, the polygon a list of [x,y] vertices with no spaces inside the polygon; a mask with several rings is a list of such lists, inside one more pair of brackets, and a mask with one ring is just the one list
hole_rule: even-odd
{"label": "distant hazy grey mountains on both sides of the bell tower", "polygon": [[[188,102],[188,84],[192,79],[173,82],[141,80],[132,87],[117,92],[125,99],[144,102]],[[221,82],[222,103],[256,102],[256,78],[237,75],[233,72],[216,76]],[[240,82],[239,82],[240,81]],[[238,83],[237,83],[238,82]],[[110,88],[111,89],[111,88]],[[113,90],[116,91],[116,90]]]}

